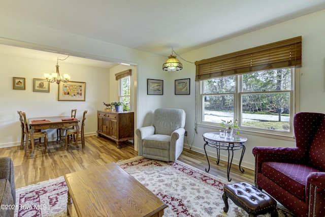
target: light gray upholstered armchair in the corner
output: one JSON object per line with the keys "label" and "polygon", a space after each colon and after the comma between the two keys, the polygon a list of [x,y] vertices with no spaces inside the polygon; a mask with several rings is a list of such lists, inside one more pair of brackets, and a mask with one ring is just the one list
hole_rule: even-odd
{"label": "light gray upholstered armchair in the corner", "polygon": [[139,156],[159,161],[175,161],[183,151],[185,111],[158,108],[152,126],[136,130]]}

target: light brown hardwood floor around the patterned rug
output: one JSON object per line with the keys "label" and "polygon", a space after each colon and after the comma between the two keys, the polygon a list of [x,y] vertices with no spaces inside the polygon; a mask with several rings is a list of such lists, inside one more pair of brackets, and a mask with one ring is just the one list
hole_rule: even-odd
{"label": "light brown hardwood floor around the patterned rug", "polygon": [[[68,150],[60,150],[60,145],[55,142],[48,144],[48,153],[36,150],[34,159],[24,158],[24,150],[20,146],[0,148],[0,157],[10,157],[15,168],[16,189],[35,184],[40,181],[54,179],[67,173],[80,171],[93,166],[117,162],[138,156],[133,144],[123,143],[122,148],[116,148],[116,143],[104,137],[85,137],[85,147],[76,148],[69,146]],[[196,167],[200,170],[208,168],[204,154],[184,149],[179,161]],[[226,180],[226,162],[215,163],[216,159],[210,158],[210,174]],[[245,169],[245,168],[244,168]],[[239,171],[233,165],[230,173],[232,182],[247,181],[253,184],[254,172],[245,169]]]}

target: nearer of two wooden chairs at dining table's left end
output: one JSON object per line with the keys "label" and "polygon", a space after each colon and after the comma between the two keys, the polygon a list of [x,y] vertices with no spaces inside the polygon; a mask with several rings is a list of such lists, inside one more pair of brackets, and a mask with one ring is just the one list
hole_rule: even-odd
{"label": "nearer of two wooden chairs at dining table's left end", "polygon": [[[45,153],[47,152],[47,143],[48,143],[48,136],[46,132],[41,132],[41,131],[36,131],[32,134],[32,138],[30,138],[30,129],[28,127],[28,123],[27,123],[27,118],[26,118],[26,113],[19,111],[19,116],[23,117],[23,123],[24,123],[24,135],[26,135],[25,138],[25,157],[27,157],[27,152],[29,150],[31,150],[31,155],[30,158],[34,157],[34,151],[35,149],[39,149],[39,148],[44,148],[45,149]],[[41,138],[44,138],[44,142],[41,143]],[[31,140],[35,140],[35,139],[39,139],[39,142],[37,143],[37,145],[35,145],[35,142],[30,142]],[[31,145],[34,144],[34,145]]]}

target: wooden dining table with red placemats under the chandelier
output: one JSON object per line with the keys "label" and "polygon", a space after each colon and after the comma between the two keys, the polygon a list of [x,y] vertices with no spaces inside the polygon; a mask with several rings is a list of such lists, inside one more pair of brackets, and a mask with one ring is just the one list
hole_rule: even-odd
{"label": "wooden dining table with red placemats under the chandelier", "polygon": [[[31,117],[28,118],[28,125],[30,127],[30,138],[34,134],[35,130],[47,130],[47,129],[61,129],[67,127],[76,127],[76,141],[78,141],[79,136],[79,120],[77,118],[72,118],[70,116],[54,116],[54,117]],[[60,142],[59,138],[57,140]],[[35,144],[34,139],[30,139],[31,143],[31,154],[30,158],[34,158]],[[26,145],[28,145],[28,140],[26,139]],[[67,145],[64,145],[64,150],[67,150]]]}

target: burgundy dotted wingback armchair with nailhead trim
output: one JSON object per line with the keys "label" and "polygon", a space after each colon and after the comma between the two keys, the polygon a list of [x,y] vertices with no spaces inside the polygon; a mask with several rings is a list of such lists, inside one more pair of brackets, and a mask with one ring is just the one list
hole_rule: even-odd
{"label": "burgundy dotted wingback armchair with nailhead trim", "polygon": [[297,216],[325,216],[325,114],[294,116],[296,147],[254,147],[255,185]]}

